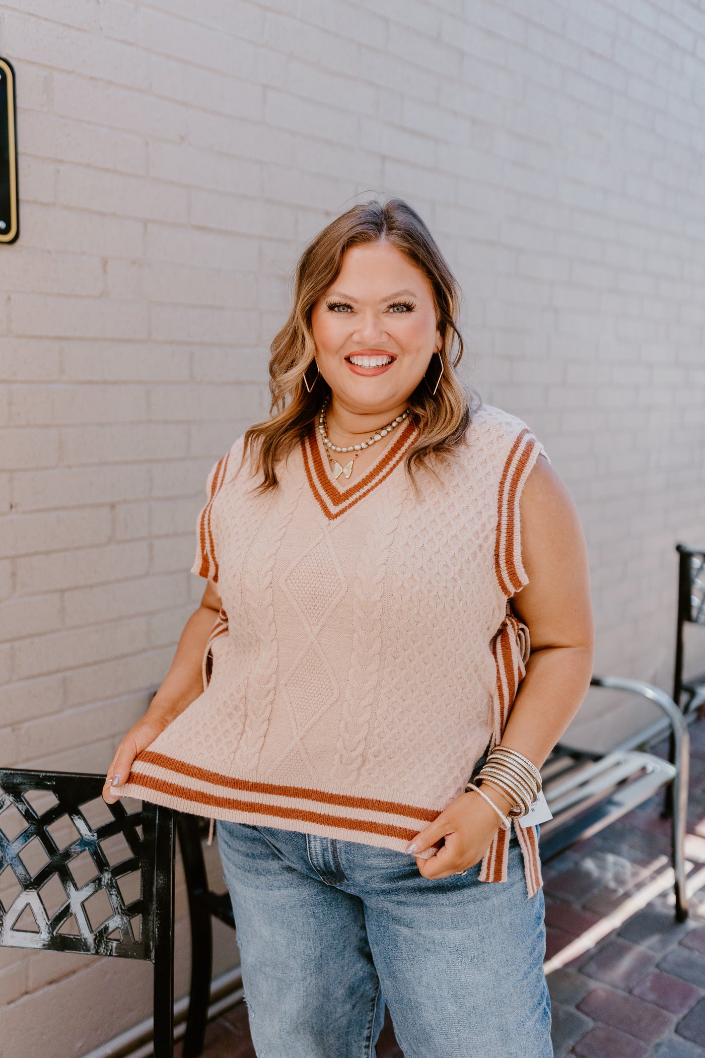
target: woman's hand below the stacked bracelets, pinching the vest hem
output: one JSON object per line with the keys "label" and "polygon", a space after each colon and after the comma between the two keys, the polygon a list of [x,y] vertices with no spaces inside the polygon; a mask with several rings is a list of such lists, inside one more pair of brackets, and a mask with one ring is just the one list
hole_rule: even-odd
{"label": "woman's hand below the stacked bracelets, pinching the vest hem", "polygon": [[[491,799],[506,814],[509,802],[494,789]],[[479,863],[499,826],[497,813],[481,797],[468,790],[451,801],[425,831],[413,838],[406,851],[423,853],[443,838],[443,845],[430,859],[416,856],[416,865],[424,878],[448,878]]]}

